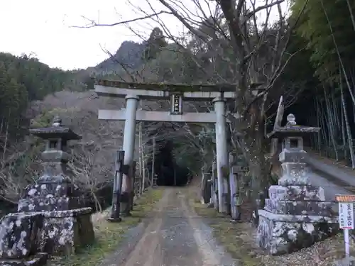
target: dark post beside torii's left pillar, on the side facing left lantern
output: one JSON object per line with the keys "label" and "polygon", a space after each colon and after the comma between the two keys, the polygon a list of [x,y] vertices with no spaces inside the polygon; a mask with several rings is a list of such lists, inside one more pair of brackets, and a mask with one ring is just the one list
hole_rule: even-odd
{"label": "dark post beside torii's left pillar, on the side facing left lantern", "polygon": [[122,188],[122,179],[123,179],[123,167],[124,167],[124,150],[118,150],[116,153],[115,160],[115,174],[114,174],[114,193],[112,196],[112,209],[111,214],[108,218],[108,221],[111,222],[120,222],[122,221],[120,215],[120,196]]}

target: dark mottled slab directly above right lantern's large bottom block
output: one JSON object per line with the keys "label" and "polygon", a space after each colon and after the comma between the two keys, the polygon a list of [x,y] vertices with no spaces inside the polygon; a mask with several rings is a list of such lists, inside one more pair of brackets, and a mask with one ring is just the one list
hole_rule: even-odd
{"label": "dark mottled slab directly above right lantern's large bottom block", "polygon": [[332,202],[325,201],[279,201],[265,199],[266,211],[273,214],[332,216]]}

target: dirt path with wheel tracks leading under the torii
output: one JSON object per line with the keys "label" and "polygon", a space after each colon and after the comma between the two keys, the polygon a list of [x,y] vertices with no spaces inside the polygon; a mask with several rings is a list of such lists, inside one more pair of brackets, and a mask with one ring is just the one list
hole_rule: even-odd
{"label": "dirt path with wheel tracks leading under the torii", "polygon": [[185,189],[165,189],[153,217],[122,266],[236,265],[187,207]]}

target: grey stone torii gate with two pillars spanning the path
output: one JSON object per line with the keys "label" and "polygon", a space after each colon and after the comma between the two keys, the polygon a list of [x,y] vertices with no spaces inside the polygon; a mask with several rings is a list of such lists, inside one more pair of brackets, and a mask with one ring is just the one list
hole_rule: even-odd
{"label": "grey stone torii gate with two pillars spanning the path", "polygon": [[[217,150],[217,186],[220,212],[229,211],[229,202],[226,195],[229,191],[227,179],[223,176],[222,167],[229,169],[229,154],[226,142],[226,101],[235,99],[234,85],[173,85],[173,84],[140,84],[116,82],[108,80],[95,80],[95,92],[99,96],[111,96],[126,99],[126,109],[99,110],[99,119],[125,121],[124,165],[133,164],[134,145],[136,138],[136,121],[161,121],[174,123],[215,123],[216,150]],[[143,111],[138,109],[138,101],[170,99],[169,111]],[[212,101],[214,112],[209,113],[183,113],[183,99],[187,101]],[[236,114],[233,114],[235,117]],[[131,178],[124,174],[122,184],[123,198],[131,193]],[[126,194],[126,196],[124,196]],[[128,210],[122,203],[121,210]]]}

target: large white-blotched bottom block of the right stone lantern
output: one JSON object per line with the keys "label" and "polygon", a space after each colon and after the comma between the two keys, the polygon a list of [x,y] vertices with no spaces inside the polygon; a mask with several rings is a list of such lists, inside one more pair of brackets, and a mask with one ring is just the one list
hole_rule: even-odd
{"label": "large white-blotched bottom block of the right stone lantern", "polygon": [[337,218],[292,216],[259,210],[256,242],[271,255],[292,253],[339,232]]}

